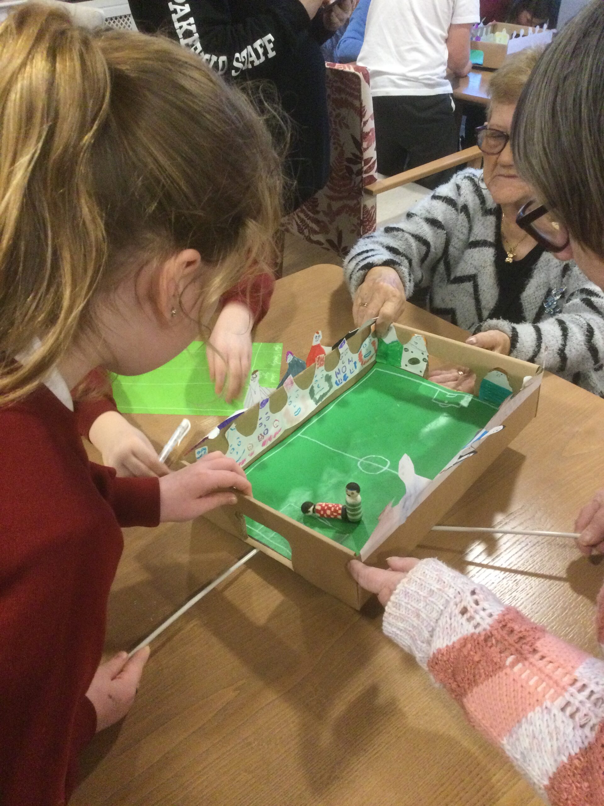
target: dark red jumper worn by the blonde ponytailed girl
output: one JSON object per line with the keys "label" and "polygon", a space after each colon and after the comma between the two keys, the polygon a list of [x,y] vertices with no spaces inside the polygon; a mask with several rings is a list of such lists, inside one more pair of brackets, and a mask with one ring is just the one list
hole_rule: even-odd
{"label": "dark red jumper worn by the blonde ponytailed girl", "polygon": [[0,804],[58,806],[95,733],[120,526],[159,523],[159,480],[89,462],[49,388],[0,408]]}

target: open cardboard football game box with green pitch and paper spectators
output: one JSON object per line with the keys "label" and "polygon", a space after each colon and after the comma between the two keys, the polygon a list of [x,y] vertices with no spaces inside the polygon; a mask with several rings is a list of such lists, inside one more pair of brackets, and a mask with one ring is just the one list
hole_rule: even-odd
{"label": "open cardboard football game box with green pitch and paper spectators", "polygon": [[[400,325],[377,339],[369,323],[315,348],[313,364],[193,453],[233,457],[253,488],[209,521],[358,609],[369,594],[350,559],[385,565],[412,551],[535,417],[542,370]],[[474,392],[428,380],[443,366],[469,368]],[[344,505],[351,482],[360,521],[303,512],[305,502]]]}

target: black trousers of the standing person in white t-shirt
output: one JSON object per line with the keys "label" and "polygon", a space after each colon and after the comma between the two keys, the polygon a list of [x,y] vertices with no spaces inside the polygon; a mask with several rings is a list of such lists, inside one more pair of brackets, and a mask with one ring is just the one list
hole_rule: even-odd
{"label": "black trousers of the standing person in white t-shirt", "polygon": [[[373,102],[378,171],[387,177],[459,150],[459,131],[448,93],[377,95]],[[441,171],[419,184],[436,188],[454,172],[454,168]]]}

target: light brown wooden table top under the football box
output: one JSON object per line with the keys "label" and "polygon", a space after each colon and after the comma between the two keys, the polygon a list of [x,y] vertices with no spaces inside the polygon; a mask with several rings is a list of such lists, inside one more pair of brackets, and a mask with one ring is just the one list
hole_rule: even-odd
{"label": "light brown wooden table top under the football box", "polygon": [[[407,305],[401,322],[461,338]],[[352,325],[341,269],[277,282],[257,340],[305,355]],[[136,418],[159,445],[180,418]],[[213,422],[211,423],[213,424]],[[572,530],[604,478],[604,401],[556,376],[540,410],[443,522]],[[126,530],[107,651],[134,646],[247,546],[207,521]],[[418,546],[595,652],[604,574],[565,539],[434,533]],[[538,806],[499,750],[362,613],[257,555],[153,645],[126,721],[85,753],[77,806]]]}

